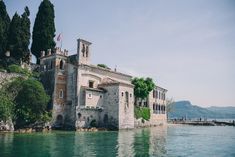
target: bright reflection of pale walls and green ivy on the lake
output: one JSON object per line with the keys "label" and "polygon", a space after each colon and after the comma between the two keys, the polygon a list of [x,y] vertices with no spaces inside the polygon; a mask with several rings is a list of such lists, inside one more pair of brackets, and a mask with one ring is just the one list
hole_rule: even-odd
{"label": "bright reflection of pale walls and green ivy on the lake", "polygon": [[118,156],[164,156],[166,127],[119,131]]}

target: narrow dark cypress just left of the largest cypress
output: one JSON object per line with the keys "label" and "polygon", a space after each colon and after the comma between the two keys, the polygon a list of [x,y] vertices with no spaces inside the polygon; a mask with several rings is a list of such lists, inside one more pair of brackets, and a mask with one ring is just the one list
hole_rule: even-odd
{"label": "narrow dark cypress just left of the largest cypress", "polygon": [[30,44],[30,19],[29,8],[26,6],[21,16],[21,42],[22,42],[22,61],[29,63],[29,44]]}

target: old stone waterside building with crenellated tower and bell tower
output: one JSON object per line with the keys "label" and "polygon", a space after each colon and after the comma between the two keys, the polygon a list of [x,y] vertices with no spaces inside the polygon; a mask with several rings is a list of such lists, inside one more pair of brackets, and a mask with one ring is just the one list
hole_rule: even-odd
{"label": "old stone waterside building with crenellated tower and bell tower", "polygon": [[[134,128],[132,76],[92,65],[91,43],[82,39],[77,43],[75,55],[59,48],[41,53],[41,78],[52,96],[53,125]],[[148,107],[158,115],[151,116],[151,121],[160,115],[165,121],[165,92],[156,87],[149,95]]]}

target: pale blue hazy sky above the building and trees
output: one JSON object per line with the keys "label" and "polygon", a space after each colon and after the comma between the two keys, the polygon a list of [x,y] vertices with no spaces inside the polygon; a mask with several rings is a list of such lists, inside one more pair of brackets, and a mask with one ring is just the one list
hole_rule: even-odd
{"label": "pale blue hazy sky above the building and trees", "polygon": [[[5,0],[12,17],[41,0]],[[92,64],[151,77],[167,97],[194,105],[235,106],[234,0],[51,0],[62,48],[92,42]],[[31,28],[32,29],[32,28]],[[58,46],[60,43],[58,43]]]}

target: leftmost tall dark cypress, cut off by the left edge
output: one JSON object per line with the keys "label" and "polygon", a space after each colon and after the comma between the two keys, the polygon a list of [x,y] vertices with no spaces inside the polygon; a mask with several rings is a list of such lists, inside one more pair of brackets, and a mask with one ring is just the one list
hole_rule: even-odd
{"label": "leftmost tall dark cypress, cut off by the left edge", "polygon": [[0,1],[0,58],[4,56],[7,46],[8,28],[10,18],[6,11],[6,5]]}

